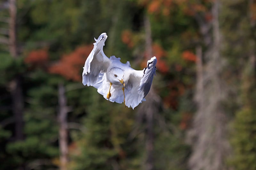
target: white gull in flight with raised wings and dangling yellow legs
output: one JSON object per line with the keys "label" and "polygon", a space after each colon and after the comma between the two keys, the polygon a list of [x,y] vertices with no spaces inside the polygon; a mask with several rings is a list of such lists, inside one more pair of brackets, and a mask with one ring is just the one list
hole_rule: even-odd
{"label": "white gull in flight with raised wings and dangling yellow legs", "polygon": [[102,33],[84,64],[83,84],[93,86],[107,100],[123,103],[127,107],[138,106],[145,100],[156,74],[156,57],[148,60],[143,70],[134,70],[130,62],[120,58],[108,58],[103,52],[107,34]]}

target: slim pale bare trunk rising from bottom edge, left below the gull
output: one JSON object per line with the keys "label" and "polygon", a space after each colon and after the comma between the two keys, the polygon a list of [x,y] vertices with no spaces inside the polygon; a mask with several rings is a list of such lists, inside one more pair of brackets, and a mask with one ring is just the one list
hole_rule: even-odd
{"label": "slim pale bare trunk rising from bottom edge, left below the gull", "polygon": [[67,170],[68,163],[68,107],[65,96],[65,87],[59,85],[59,147],[60,147],[60,170]]}

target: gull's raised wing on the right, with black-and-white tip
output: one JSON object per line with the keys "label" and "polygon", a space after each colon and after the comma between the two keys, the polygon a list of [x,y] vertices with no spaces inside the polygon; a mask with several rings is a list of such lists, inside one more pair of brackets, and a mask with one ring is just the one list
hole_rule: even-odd
{"label": "gull's raised wing on the right, with black-and-white tip", "polygon": [[[128,107],[138,106],[148,94],[152,85],[153,77],[156,74],[156,57],[148,60],[147,67],[143,70],[133,70],[129,82],[125,85],[125,105]],[[127,86],[127,87],[126,87]]]}

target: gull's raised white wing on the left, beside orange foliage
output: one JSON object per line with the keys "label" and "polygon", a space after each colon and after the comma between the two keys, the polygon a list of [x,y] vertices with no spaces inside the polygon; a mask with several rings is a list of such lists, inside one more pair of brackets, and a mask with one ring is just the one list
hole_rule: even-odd
{"label": "gull's raised white wing on the left, beside orange foliage", "polygon": [[[105,41],[108,38],[106,33],[100,34],[99,38],[96,40],[92,52],[88,56],[84,64],[83,71],[83,84],[92,85],[96,88],[102,82],[102,75],[107,71],[107,68],[110,64],[109,58],[103,52],[103,46]],[[101,76],[100,76],[101,75]]]}

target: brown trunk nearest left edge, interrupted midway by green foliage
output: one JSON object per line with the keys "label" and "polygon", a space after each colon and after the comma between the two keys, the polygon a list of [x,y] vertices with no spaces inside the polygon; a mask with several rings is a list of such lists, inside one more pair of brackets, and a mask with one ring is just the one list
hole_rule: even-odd
{"label": "brown trunk nearest left edge, interrupted midway by green foliage", "polygon": [[[9,0],[9,50],[14,58],[18,58],[17,36],[16,36],[16,0]],[[24,99],[22,94],[22,77],[20,75],[10,83],[11,96],[12,96],[12,110],[15,119],[15,140],[22,140],[23,135],[23,108]]]}

